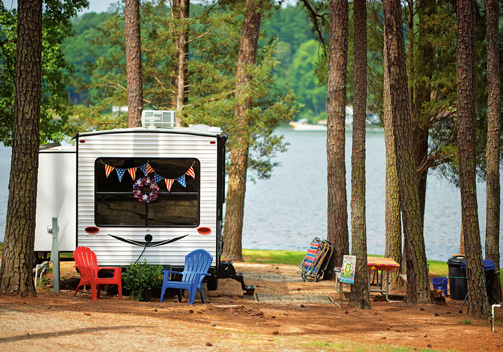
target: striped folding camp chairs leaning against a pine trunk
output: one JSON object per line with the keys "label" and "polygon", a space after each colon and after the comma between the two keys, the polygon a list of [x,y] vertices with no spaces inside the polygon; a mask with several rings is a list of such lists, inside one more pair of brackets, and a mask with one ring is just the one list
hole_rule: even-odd
{"label": "striped folding camp chairs leaning against a pine trunk", "polygon": [[326,239],[315,237],[307,254],[299,265],[297,273],[304,281],[318,281],[328,265],[332,254],[332,244]]}

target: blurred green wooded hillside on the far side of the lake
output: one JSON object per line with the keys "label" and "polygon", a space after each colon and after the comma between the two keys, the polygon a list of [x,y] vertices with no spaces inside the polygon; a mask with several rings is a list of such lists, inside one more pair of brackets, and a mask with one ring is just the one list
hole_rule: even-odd
{"label": "blurred green wooded hillside on the far side of the lake", "polygon": [[[200,5],[191,4],[191,12],[199,9]],[[93,45],[93,39],[99,35],[98,26],[113,15],[91,12],[72,19],[75,35],[65,40],[63,50],[68,63],[74,65],[77,80],[87,82],[89,75],[86,73],[86,63],[94,62],[95,55],[106,56],[113,50]],[[275,57],[280,63],[273,72],[276,85],[282,89],[288,86],[297,95],[297,102],[302,106],[297,119],[307,118],[311,122],[326,119],[326,82],[319,85],[314,72],[319,42],[310,31],[305,11],[300,5],[277,7],[266,18],[261,25],[265,38],[259,41],[259,46],[277,39],[278,52]],[[71,86],[68,87],[68,94],[72,104],[85,104],[88,98],[86,91],[78,92]]]}

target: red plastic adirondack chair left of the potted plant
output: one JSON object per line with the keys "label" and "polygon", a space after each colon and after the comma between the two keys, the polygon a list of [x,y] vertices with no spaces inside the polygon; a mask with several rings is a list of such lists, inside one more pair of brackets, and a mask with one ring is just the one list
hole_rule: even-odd
{"label": "red plastic adirondack chair left of the potted plant", "polygon": [[[102,285],[117,285],[119,287],[119,299],[122,300],[122,285],[121,285],[121,268],[100,268],[96,260],[96,254],[88,247],[77,247],[73,251],[73,258],[75,259],[74,267],[80,273],[80,282],[73,297],[78,292],[78,288],[83,285],[91,285],[91,293],[93,300],[100,297]],[[112,269],[114,271],[113,278],[99,278],[98,272],[102,269]]]}

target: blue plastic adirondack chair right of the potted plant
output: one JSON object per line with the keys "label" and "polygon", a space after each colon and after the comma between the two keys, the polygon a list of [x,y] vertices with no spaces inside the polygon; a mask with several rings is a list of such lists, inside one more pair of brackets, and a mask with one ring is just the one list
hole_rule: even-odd
{"label": "blue plastic adirondack chair right of the potted plant", "polygon": [[[201,294],[201,301],[204,303],[203,291],[201,283],[208,274],[213,257],[204,249],[196,249],[185,256],[185,267],[183,272],[174,272],[171,270],[163,270],[162,289],[160,293],[160,301],[164,297],[164,291],[167,288],[176,289],[178,293],[178,301],[182,302],[182,290],[189,290],[189,304],[194,303],[196,292]],[[170,281],[170,274],[182,274],[182,281]]]}

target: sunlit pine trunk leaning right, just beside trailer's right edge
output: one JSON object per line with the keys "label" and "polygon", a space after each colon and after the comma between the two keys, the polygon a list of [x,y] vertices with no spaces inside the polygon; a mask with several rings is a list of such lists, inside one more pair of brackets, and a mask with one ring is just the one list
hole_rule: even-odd
{"label": "sunlit pine trunk leaning right, just beside trailer's right edge", "polygon": [[244,193],[246,191],[246,169],[248,167],[248,148],[250,121],[246,111],[251,108],[251,99],[239,89],[251,79],[246,74],[246,66],[254,64],[257,57],[262,7],[254,0],[246,0],[239,57],[236,73],[237,106],[234,112],[235,128],[231,136],[229,181],[225,206],[223,256],[230,260],[242,261],[241,236],[243,229]]}

